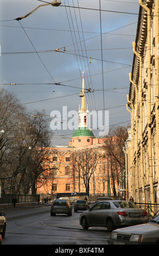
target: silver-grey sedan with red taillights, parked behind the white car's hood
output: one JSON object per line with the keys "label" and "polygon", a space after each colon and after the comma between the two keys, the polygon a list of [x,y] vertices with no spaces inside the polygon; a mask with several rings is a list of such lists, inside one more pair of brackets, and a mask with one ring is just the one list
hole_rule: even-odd
{"label": "silver-grey sedan with red taillights, parked behind the white car's hood", "polygon": [[125,227],[148,222],[148,214],[132,202],[109,200],[94,204],[79,217],[79,224],[83,229],[89,227],[107,227],[112,231]]}

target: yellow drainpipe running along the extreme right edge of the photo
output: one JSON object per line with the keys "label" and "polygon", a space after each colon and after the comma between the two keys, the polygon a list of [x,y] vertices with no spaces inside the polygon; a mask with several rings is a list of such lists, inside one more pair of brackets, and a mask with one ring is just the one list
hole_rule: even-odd
{"label": "yellow drainpipe running along the extreme right edge of the photo", "polygon": [[[155,108],[156,108],[156,146],[159,190],[159,0],[155,1]],[[158,192],[159,193],[159,192]]]}

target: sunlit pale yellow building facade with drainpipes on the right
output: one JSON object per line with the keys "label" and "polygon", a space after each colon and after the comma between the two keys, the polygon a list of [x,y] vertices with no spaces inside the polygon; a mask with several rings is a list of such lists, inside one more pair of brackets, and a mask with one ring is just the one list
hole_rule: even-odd
{"label": "sunlit pale yellow building facade with drainpipes on the right", "polygon": [[125,142],[127,182],[138,203],[159,204],[159,0],[139,0],[139,18],[127,110],[131,142]]}

